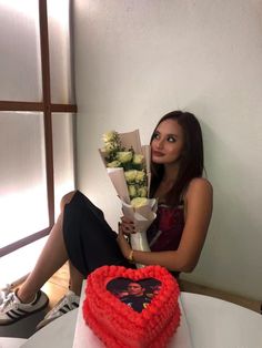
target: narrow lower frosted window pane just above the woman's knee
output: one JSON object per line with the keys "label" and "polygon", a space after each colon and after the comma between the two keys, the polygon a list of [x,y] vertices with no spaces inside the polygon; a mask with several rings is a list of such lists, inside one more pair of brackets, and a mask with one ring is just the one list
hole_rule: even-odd
{"label": "narrow lower frosted window pane just above the woman's knee", "polygon": [[73,117],[70,113],[52,114],[56,217],[61,197],[74,190]]}

